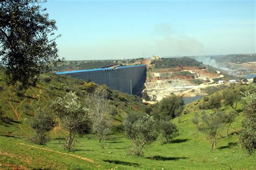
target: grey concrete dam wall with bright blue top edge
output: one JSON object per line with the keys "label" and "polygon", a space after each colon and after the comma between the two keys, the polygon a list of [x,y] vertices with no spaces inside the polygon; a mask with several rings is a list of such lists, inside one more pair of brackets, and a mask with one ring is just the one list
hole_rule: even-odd
{"label": "grey concrete dam wall with bright blue top edge", "polygon": [[90,79],[96,84],[105,84],[111,90],[138,95],[142,91],[142,86],[144,86],[146,80],[146,65],[64,71],[56,74],[64,74],[84,81]]}

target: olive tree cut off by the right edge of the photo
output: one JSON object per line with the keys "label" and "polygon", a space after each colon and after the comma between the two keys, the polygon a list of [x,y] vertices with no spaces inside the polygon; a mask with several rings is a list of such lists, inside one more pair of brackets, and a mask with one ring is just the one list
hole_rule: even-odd
{"label": "olive tree cut off by the right edge of the photo", "polygon": [[256,85],[251,84],[250,89],[242,97],[244,106],[244,120],[240,132],[240,143],[248,154],[252,154],[256,148]]}

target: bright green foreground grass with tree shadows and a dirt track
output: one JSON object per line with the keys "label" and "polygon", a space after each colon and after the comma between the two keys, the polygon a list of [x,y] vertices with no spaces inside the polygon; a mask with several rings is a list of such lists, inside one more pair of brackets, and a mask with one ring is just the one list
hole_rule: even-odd
{"label": "bright green foreground grass with tree shadows and a dirt track", "polygon": [[[255,169],[255,154],[248,156],[237,143],[241,116],[233,124],[230,137],[225,128],[218,137],[217,149],[210,148],[204,134],[199,134],[191,123],[193,114],[181,116],[180,135],[171,144],[161,144],[161,139],[144,151],[143,157],[128,155],[131,142],[123,133],[113,134],[99,144],[93,135],[78,138],[76,150],[66,152],[62,145],[64,134],[52,134],[46,146],[34,145],[19,137],[1,135],[0,162],[2,168],[12,165],[27,168],[106,168],[106,169]],[[177,121],[177,119],[175,120]],[[36,147],[32,147],[36,146]],[[50,149],[51,151],[45,150]],[[57,153],[58,151],[58,153]],[[72,154],[66,155],[65,153]],[[88,158],[88,162],[80,158]]]}

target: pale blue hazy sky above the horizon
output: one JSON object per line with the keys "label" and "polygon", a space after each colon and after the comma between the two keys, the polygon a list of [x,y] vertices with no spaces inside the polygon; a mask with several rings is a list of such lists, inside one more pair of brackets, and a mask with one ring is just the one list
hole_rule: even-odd
{"label": "pale blue hazy sky above the horizon", "polygon": [[50,1],[66,60],[255,52],[255,1]]}

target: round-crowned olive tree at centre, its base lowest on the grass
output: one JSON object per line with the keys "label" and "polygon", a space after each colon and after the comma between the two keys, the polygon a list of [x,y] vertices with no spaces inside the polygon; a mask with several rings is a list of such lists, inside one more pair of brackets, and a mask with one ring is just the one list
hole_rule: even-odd
{"label": "round-crowned olive tree at centre, its base lowest on the grass", "polygon": [[131,112],[123,121],[126,136],[133,142],[133,154],[142,155],[143,148],[157,140],[156,121],[148,115]]}

